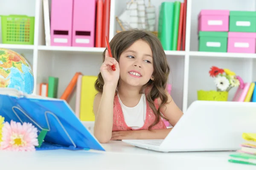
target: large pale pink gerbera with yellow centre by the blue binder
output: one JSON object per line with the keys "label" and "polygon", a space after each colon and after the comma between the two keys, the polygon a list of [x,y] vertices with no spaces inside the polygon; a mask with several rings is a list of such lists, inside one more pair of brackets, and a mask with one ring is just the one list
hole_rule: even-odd
{"label": "large pale pink gerbera with yellow centre by the blue binder", "polygon": [[38,146],[37,132],[31,123],[5,122],[0,150],[35,151],[35,146]]}

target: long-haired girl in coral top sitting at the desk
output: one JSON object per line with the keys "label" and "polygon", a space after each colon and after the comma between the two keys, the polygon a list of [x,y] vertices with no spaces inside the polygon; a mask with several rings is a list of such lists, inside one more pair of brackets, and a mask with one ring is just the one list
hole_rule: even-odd
{"label": "long-haired girl in coral top sitting at the desk", "polygon": [[[94,136],[101,143],[122,139],[164,139],[183,115],[166,91],[170,68],[158,38],[140,30],[123,31],[103,53],[95,88]],[[111,66],[115,66],[113,71]]]}

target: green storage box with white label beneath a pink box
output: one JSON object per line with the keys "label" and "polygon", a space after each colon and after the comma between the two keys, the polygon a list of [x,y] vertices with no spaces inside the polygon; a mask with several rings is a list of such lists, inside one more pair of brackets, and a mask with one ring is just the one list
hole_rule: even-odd
{"label": "green storage box with white label beneath a pink box", "polygon": [[227,32],[199,32],[198,51],[227,52]]}

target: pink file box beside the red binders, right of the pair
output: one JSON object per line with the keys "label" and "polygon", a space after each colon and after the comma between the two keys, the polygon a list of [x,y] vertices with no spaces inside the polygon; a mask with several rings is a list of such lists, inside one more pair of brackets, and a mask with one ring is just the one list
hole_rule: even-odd
{"label": "pink file box beside the red binders, right of the pair", "polygon": [[94,47],[96,0],[74,0],[72,46]]}

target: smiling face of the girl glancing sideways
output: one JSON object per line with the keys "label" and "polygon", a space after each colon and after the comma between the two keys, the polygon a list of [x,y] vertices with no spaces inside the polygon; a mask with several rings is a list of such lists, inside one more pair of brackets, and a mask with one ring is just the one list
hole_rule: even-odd
{"label": "smiling face of the girl glancing sideways", "polygon": [[135,41],[119,58],[121,84],[141,87],[152,79],[153,54],[144,40]]}

